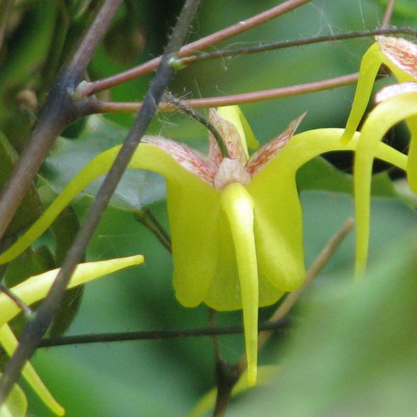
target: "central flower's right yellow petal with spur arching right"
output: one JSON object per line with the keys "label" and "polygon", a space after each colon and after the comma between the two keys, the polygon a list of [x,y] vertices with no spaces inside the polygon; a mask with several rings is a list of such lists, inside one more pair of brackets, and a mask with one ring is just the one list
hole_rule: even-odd
{"label": "central flower's right yellow petal with spur arching right", "polygon": [[[340,142],[342,132],[342,129],[316,129],[294,135],[248,186],[256,201],[258,269],[283,291],[300,287],[305,275],[296,171],[325,152],[355,150],[359,133],[343,145]],[[377,144],[375,156],[405,169],[406,156],[384,143]]]}

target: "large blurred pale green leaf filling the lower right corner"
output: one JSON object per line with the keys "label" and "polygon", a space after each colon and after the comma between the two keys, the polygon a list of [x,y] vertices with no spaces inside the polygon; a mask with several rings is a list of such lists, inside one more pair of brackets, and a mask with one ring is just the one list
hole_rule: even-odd
{"label": "large blurred pale green leaf filling the lower right corner", "polygon": [[316,287],[274,383],[229,415],[254,415],[259,404],[264,416],[413,415],[415,237],[381,251],[379,265],[355,286]]}

